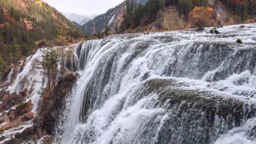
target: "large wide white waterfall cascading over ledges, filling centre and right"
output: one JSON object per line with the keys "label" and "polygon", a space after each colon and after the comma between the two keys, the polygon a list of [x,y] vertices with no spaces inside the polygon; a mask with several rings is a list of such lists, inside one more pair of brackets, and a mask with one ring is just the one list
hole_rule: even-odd
{"label": "large wide white waterfall cascading over ledges, filling centre and right", "polygon": [[209,30],[79,43],[55,143],[256,143],[256,25]]}

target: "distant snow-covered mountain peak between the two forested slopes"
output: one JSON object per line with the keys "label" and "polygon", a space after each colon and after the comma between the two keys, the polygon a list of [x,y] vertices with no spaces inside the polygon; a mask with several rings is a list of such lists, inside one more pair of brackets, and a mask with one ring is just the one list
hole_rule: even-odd
{"label": "distant snow-covered mountain peak between the two forested slopes", "polygon": [[63,15],[66,16],[66,18],[68,18],[70,21],[76,22],[79,25],[83,25],[95,17],[95,16],[77,15],[75,13],[63,13]]}

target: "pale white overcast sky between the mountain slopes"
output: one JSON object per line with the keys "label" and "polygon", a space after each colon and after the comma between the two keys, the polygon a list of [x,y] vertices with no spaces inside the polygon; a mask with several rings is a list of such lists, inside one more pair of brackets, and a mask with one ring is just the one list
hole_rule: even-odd
{"label": "pale white overcast sky between the mountain slopes", "polygon": [[124,0],[43,0],[60,12],[92,16],[106,12]]}

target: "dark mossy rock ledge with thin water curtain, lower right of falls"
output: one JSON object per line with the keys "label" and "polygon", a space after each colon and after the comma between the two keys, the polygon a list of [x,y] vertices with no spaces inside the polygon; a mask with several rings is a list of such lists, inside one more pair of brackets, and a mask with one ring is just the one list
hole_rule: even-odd
{"label": "dark mossy rock ledge with thin water curtain, lower right of falls", "polygon": [[169,117],[162,123],[158,144],[210,144],[219,135],[241,126],[249,110],[255,111],[238,99],[186,87],[190,85],[172,79],[149,80],[130,100],[135,103],[150,94],[158,95],[150,108],[164,108],[163,115]]}

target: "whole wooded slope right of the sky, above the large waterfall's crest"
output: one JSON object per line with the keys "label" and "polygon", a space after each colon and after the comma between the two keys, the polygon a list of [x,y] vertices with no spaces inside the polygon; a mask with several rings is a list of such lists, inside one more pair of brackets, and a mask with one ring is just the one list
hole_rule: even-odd
{"label": "whole wooded slope right of the sky, above the large waterfall's crest", "polygon": [[125,0],[87,22],[82,30],[99,35],[106,25],[111,34],[191,28],[189,13],[196,6],[213,7],[213,19],[222,25],[256,21],[255,0]]}

